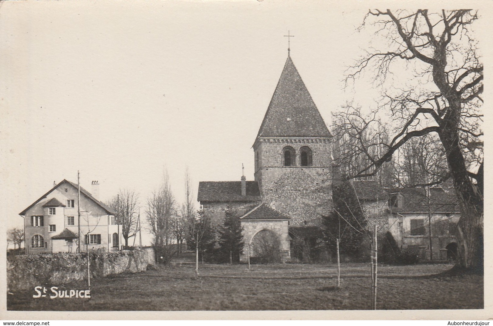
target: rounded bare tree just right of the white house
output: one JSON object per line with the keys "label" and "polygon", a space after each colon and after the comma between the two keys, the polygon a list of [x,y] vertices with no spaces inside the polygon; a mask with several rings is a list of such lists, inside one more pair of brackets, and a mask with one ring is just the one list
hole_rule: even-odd
{"label": "rounded bare tree just right of the white house", "polygon": [[125,239],[125,246],[128,246],[128,239],[136,236],[139,231],[139,194],[135,190],[121,189],[117,196],[113,196],[108,204],[116,212],[116,221],[122,226],[122,235]]}

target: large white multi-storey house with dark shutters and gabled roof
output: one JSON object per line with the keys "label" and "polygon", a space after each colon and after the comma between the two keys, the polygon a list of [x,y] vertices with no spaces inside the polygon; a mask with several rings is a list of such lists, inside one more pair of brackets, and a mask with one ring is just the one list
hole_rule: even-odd
{"label": "large white multi-storey house with dark shutters and gabled roof", "polygon": [[116,212],[97,199],[97,181],[92,187],[94,195],[80,187],[80,219],[77,184],[68,180],[19,213],[24,217],[26,254],[85,251],[86,244],[91,250],[121,248],[122,226],[115,223]]}

